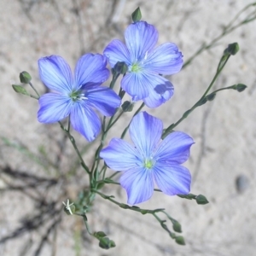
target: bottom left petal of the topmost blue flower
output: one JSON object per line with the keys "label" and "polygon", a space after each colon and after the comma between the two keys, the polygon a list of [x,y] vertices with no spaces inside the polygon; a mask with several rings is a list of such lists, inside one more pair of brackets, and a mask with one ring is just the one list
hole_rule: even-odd
{"label": "bottom left petal of the topmost blue flower", "polygon": [[139,101],[148,96],[148,90],[153,86],[149,83],[147,75],[143,73],[126,73],[121,80],[121,87],[134,101]]}

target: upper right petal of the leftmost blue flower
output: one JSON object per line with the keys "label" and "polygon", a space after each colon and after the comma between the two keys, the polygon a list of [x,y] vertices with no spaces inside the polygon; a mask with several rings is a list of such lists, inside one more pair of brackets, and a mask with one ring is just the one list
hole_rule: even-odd
{"label": "upper right petal of the leftmost blue flower", "polygon": [[107,64],[107,58],[103,55],[83,55],[75,67],[74,79],[76,83],[74,89],[78,90],[82,86],[86,89],[87,83],[100,85],[105,82],[109,77]]}

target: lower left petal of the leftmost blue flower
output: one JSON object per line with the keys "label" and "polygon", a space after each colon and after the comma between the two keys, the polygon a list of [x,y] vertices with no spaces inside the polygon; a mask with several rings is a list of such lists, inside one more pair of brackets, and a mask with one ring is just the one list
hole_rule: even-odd
{"label": "lower left petal of the leftmost blue flower", "polygon": [[55,123],[66,118],[72,111],[73,103],[68,96],[46,93],[39,98],[38,121]]}

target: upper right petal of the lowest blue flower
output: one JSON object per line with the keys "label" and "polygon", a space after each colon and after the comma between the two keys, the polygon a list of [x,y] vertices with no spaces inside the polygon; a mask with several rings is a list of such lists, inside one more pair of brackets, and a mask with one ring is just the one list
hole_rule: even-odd
{"label": "upper right petal of the lowest blue flower", "polygon": [[173,131],[161,143],[154,157],[172,164],[183,164],[189,159],[192,137],[182,131]]}

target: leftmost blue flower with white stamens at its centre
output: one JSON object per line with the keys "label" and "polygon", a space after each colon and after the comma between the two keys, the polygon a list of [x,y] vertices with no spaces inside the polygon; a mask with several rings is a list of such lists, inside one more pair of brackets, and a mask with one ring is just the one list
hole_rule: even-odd
{"label": "leftmost blue flower with white stamens at its centre", "polygon": [[100,86],[109,77],[107,59],[103,55],[83,55],[74,76],[67,62],[57,55],[38,60],[39,74],[53,92],[39,98],[38,121],[54,123],[70,115],[73,129],[89,142],[101,131],[101,120],[96,108],[111,116],[120,106],[120,98],[108,87]]}

